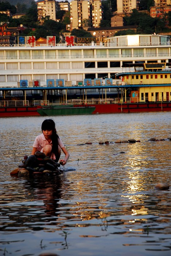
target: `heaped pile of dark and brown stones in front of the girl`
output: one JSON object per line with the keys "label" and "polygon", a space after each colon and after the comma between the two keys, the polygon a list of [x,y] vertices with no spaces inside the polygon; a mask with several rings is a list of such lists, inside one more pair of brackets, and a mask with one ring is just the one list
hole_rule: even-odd
{"label": "heaped pile of dark and brown stones in front of the girl", "polygon": [[24,156],[22,163],[19,163],[18,168],[14,169],[10,175],[17,176],[34,176],[34,175],[58,175],[63,173],[63,170],[59,170],[60,164],[55,162],[50,157],[40,151],[37,151],[34,155]]}

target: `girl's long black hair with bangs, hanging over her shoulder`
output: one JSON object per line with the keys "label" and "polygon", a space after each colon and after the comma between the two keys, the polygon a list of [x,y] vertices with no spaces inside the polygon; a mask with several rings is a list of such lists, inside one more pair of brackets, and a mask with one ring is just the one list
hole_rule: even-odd
{"label": "girl's long black hair with bangs, hanging over her shoulder", "polygon": [[56,155],[59,154],[58,153],[58,141],[59,141],[59,136],[58,133],[56,131],[56,127],[55,127],[55,122],[52,119],[45,119],[42,123],[42,132],[46,131],[46,130],[52,130],[52,152]]}

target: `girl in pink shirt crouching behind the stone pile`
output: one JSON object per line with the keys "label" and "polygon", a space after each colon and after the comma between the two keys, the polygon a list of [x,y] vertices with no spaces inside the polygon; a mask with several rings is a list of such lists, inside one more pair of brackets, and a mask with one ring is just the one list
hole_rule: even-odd
{"label": "girl in pink shirt crouching behind the stone pile", "polygon": [[52,119],[46,119],[43,121],[42,132],[42,134],[35,138],[31,154],[34,155],[36,151],[41,151],[53,160],[56,159],[56,161],[59,161],[62,149],[65,154],[65,158],[61,159],[60,163],[65,165],[70,154],[66,150],[62,140],[59,138],[55,128],[55,123]]}

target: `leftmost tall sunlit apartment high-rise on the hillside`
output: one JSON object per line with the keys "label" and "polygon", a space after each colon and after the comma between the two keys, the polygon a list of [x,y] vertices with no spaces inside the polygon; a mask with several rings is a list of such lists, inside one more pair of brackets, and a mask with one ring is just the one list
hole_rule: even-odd
{"label": "leftmost tall sunlit apartment high-rise on the hillside", "polygon": [[44,0],[37,3],[38,21],[43,23],[43,18],[50,16],[50,19],[56,20],[57,2],[55,0]]}

